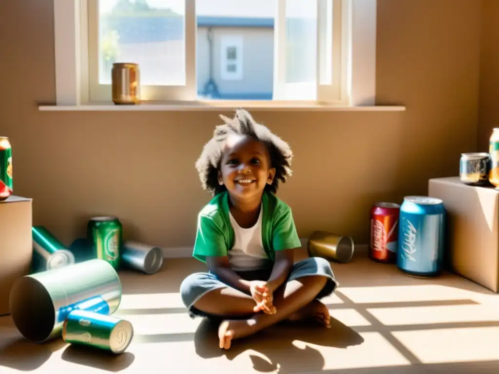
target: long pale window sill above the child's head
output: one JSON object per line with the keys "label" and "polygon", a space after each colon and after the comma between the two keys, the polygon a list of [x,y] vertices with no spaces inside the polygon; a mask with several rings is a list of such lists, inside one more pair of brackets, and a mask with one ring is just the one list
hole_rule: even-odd
{"label": "long pale window sill above the child's head", "polygon": [[84,105],[38,105],[43,112],[182,112],[182,111],[218,111],[245,108],[263,111],[313,111],[313,112],[402,112],[403,105],[376,106],[341,106],[317,103],[259,102],[259,101],[195,101],[178,103],[142,103],[138,105],[115,105],[95,103]]}

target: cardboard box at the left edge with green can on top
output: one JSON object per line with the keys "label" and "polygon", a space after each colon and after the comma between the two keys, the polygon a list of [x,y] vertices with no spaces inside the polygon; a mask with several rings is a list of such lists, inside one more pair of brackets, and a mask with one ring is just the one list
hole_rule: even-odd
{"label": "cardboard box at the left edge with green can on top", "polygon": [[0,316],[10,314],[8,296],[14,282],[29,274],[31,226],[32,199],[9,196],[0,201]]}

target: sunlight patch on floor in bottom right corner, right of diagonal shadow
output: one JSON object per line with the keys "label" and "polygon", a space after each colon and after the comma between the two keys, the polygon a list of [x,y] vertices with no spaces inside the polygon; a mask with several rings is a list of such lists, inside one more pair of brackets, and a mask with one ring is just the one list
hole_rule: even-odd
{"label": "sunlight patch on floor in bottom right corner, right of diagonal shadow", "polygon": [[424,364],[499,360],[499,327],[397,331],[392,335]]}

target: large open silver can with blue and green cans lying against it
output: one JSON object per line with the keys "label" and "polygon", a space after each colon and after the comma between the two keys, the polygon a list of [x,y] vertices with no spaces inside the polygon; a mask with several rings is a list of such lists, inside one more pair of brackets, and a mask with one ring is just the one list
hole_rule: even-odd
{"label": "large open silver can with blue and green cans lying against it", "polygon": [[33,343],[62,335],[71,344],[120,354],[133,338],[131,323],[112,316],[121,296],[116,270],[93,259],[19,278],[9,309],[17,330]]}

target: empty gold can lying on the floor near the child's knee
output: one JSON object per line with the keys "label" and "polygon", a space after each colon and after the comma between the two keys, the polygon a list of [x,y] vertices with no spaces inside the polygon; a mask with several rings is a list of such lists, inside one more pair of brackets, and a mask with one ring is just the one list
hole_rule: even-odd
{"label": "empty gold can lying on the floor near the child's knee", "polygon": [[322,257],[329,261],[347,263],[353,257],[352,238],[327,231],[314,231],[308,238],[308,255]]}

